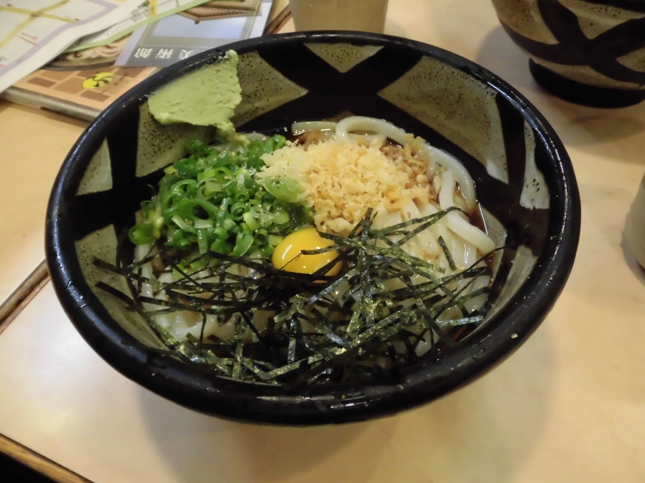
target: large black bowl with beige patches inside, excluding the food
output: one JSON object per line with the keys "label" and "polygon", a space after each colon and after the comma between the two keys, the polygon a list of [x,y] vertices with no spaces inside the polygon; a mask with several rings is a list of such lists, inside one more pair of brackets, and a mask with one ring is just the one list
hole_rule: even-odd
{"label": "large black bowl with beige patches inside, excluding the food", "polygon": [[[117,234],[141,200],[205,136],[164,127],[146,95],[218,59],[241,57],[239,131],[268,131],[294,120],[342,113],[385,118],[457,156],[477,184],[487,222],[506,249],[488,321],[439,356],[393,381],[285,390],[217,377],[161,354],[141,319],[96,289],[124,281],[94,266],[115,261]],[[489,173],[493,173],[491,176]],[[200,412],[272,424],[361,421],[432,401],[482,375],[537,328],[559,296],[575,258],[580,201],[569,157],[551,126],[511,86],[458,55],[368,33],[309,32],[230,44],[178,62],[106,109],[70,151],[47,213],[46,251],[55,290],[75,327],[114,368],[153,392]],[[502,228],[503,226],[503,228]]]}

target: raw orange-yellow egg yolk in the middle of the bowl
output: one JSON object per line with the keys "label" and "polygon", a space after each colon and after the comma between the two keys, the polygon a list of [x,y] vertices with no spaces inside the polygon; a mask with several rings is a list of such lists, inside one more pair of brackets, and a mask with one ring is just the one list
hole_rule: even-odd
{"label": "raw orange-yellow egg yolk in the middle of the bowl", "polygon": [[[322,269],[337,258],[338,252],[319,253],[317,255],[301,255],[303,250],[318,250],[333,245],[332,240],[322,238],[315,228],[301,228],[288,234],[278,243],[273,251],[273,267],[288,272],[312,274]],[[332,276],[341,271],[342,261],[339,261],[326,274]]]}

